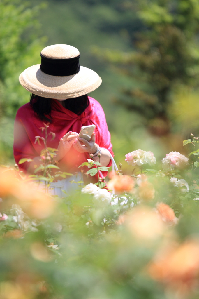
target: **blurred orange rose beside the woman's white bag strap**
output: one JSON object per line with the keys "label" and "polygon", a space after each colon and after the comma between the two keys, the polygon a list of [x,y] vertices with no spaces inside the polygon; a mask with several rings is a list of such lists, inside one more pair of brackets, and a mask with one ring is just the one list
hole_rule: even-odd
{"label": "blurred orange rose beside the woman's white bag strap", "polygon": [[108,182],[110,190],[115,189],[116,194],[122,194],[125,191],[130,192],[135,185],[135,181],[130,176],[113,176]]}

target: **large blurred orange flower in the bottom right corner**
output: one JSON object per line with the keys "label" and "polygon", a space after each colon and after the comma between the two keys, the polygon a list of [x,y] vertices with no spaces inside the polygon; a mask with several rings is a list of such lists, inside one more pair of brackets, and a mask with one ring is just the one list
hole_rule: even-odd
{"label": "large blurred orange flower in the bottom right corner", "polygon": [[185,295],[184,292],[195,285],[198,274],[198,239],[188,240],[178,246],[164,246],[149,265],[149,275],[154,280],[161,281],[178,292],[182,291],[181,295]]}

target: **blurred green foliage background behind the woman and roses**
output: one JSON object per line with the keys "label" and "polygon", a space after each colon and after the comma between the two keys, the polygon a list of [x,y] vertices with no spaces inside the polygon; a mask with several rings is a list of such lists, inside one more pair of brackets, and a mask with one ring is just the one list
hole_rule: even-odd
{"label": "blurred green foliage background behind the woman and roses", "polygon": [[[197,134],[198,1],[0,3],[1,163],[13,161],[14,117],[29,100],[18,75],[40,62],[44,46],[56,43],[77,47],[81,65],[101,76],[90,95],[105,111],[117,163],[126,165],[124,155],[138,148],[157,158],[181,151],[186,135]],[[157,138],[148,129],[161,113],[170,132]]]}

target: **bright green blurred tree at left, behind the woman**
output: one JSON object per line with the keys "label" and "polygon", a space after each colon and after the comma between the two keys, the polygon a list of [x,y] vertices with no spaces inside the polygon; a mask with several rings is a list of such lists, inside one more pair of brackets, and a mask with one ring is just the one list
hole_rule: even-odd
{"label": "bright green blurred tree at left, behind the woman", "polygon": [[17,109],[27,102],[29,93],[21,88],[19,74],[40,62],[44,46],[36,20],[44,4],[30,7],[22,0],[0,0],[0,154],[4,161],[12,157],[13,119]]}

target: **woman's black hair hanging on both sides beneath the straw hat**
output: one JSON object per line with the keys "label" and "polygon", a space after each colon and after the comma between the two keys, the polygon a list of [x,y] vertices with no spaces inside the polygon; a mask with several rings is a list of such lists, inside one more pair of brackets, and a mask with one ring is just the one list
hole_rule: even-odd
{"label": "woman's black hair hanging on both sides beneath the straw hat", "polygon": [[[47,120],[52,122],[51,118],[51,105],[53,99],[47,97],[40,97],[35,94],[30,94],[30,104],[33,110],[37,113],[41,120]],[[64,108],[80,115],[89,106],[89,99],[87,94],[80,97],[74,97],[72,99],[66,99],[63,101]]]}

